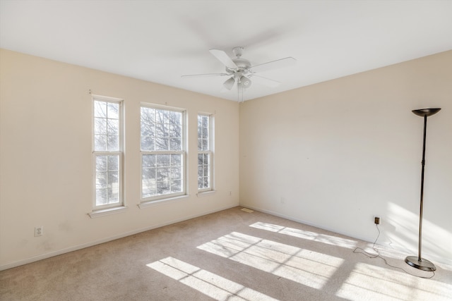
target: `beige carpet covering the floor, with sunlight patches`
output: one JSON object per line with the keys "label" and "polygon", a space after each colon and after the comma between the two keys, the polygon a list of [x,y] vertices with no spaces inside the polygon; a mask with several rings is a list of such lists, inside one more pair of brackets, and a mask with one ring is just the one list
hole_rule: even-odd
{"label": "beige carpet covering the floor, with sunlight patches", "polygon": [[[375,235],[377,231],[375,231]],[[0,300],[452,300],[452,268],[241,207],[0,272]],[[357,252],[362,252],[357,250]]]}

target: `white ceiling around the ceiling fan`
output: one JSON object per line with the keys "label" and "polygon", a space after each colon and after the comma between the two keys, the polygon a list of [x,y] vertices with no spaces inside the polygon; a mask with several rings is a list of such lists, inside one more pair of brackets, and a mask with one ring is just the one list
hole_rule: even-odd
{"label": "white ceiling around the ceiling fan", "polygon": [[292,56],[244,99],[452,49],[452,1],[0,0],[0,47],[237,101],[209,49],[252,65]]}

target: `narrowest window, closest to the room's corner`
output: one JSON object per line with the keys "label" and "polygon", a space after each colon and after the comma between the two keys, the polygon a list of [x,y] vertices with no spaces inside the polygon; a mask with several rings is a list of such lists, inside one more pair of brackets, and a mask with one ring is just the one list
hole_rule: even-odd
{"label": "narrowest window, closest to the room's corner", "polygon": [[212,180],[212,118],[198,114],[198,190],[213,189]]}

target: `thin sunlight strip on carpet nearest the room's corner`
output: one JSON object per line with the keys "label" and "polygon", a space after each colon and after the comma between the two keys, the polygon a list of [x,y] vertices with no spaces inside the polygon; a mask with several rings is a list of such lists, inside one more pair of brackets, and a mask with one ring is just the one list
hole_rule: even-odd
{"label": "thin sunlight strip on carpet nearest the room's corner", "polygon": [[347,249],[355,249],[357,246],[356,240],[350,240],[347,238],[339,238],[333,235],[319,234],[311,231],[304,231],[296,228],[289,228],[284,226],[274,225],[272,223],[263,223],[258,221],[249,225],[253,228],[266,230],[270,232],[277,232],[285,235],[290,235],[296,238],[303,238],[305,240],[314,240],[316,242],[323,242],[328,245],[337,245],[338,247],[346,247]]}

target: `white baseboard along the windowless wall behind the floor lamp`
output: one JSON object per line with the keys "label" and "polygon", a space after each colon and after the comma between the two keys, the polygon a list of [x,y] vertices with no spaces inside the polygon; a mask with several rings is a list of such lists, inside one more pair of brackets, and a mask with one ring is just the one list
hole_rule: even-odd
{"label": "white baseboard along the windowless wall behind the floor lamp", "polygon": [[[312,222],[310,222],[310,221],[304,221],[304,220],[302,220],[302,219],[297,219],[297,218],[295,218],[295,217],[293,217],[293,216],[287,216],[287,215],[285,215],[285,214],[280,214],[280,213],[275,212],[275,211],[263,209],[263,208],[260,208],[260,207],[249,206],[249,205],[247,205],[247,204],[242,204],[242,203],[240,204],[240,206],[241,206],[241,207],[246,207],[246,208],[249,208],[249,209],[253,209],[253,210],[256,210],[256,211],[261,211],[261,212],[266,213],[266,214],[271,214],[271,215],[274,215],[274,216],[278,216],[278,217],[281,217],[281,218],[283,218],[283,219],[288,219],[289,221],[296,221],[297,223],[303,223],[304,225],[308,225],[308,226],[320,228],[320,229],[323,229],[323,230],[326,230],[326,231],[331,231],[331,232],[333,232],[333,233],[338,233],[338,234],[340,234],[340,235],[349,236],[350,238],[355,238],[355,239],[358,239],[358,240],[363,240],[363,241],[365,241],[365,242],[371,242],[371,243],[373,242],[373,241],[367,240],[367,238],[356,237],[356,236],[350,235],[350,233],[340,233],[340,232],[337,231],[337,229],[331,229],[331,228],[325,227],[325,226],[323,226],[323,225],[319,225],[319,224],[316,224],[316,223],[312,223]],[[407,249],[405,249],[405,248],[403,248],[403,247],[398,247],[398,246],[396,246],[396,245],[390,245],[389,243],[385,243],[385,242],[379,243],[379,244],[377,244],[377,245],[381,245],[381,246],[383,246],[383,247],[387,247],[388,249],[397,250],[398,252],[409,252]],[[412,255],[412,254],[410,254],[410,253],[407,253],[407,254],[408,254],[408,255]],[[452,259],[446,259],[446,258],[434,256],[434,255],[433,255],[433,256],[432,256],[432,255],[429,255],[429,260],[430,260],[430,261],[437,262],[437,263],[440,263],[440,264],[446,264],[446,265],[449,266],[449,268],[452,266]]]}

